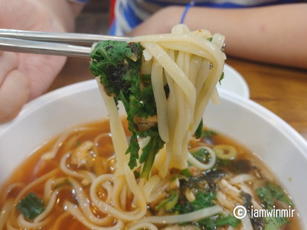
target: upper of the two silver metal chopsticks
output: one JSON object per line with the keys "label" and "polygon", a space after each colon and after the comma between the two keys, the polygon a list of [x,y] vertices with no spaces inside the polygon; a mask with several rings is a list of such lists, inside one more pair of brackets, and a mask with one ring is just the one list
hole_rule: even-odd
{"label": "upper of the two silver metal chopsticks", "polygon": [[82,33],[54,33],[25,30],[0,29],[0,37],[27,39],[36,41],[49,41],[69,44],[92,45],[102,40],[127,41],[130,37],[82,34]]}

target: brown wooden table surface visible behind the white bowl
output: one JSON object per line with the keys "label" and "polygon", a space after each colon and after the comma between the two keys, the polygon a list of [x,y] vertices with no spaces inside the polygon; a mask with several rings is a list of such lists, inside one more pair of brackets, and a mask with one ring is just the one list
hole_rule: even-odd
{"label": "brown wooden table surface visible behind the white bowl", "polygon": [[[307,71],[230,58],[226,63],[246,80],[251,100],[289,123],[307,140]],[[69,58],[49,90],[93,79],[89,60]]]}

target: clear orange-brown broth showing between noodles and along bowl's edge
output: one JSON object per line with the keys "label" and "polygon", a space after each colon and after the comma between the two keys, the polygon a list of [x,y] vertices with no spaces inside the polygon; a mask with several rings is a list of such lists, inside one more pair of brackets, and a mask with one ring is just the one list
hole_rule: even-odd
{"label": "clear orange-brown broth showing between noodles and along bowl's edge", "polygon": [[[126,122],[123,122],[123,124],[125,127],[126,134],[128,135],[129,132],[127,131],[127,124]],[[84,127],[89,127],[93,130],[86,132],[86,135],[81,134],[83,132],[85,133],[85,131],[80,131],[80,135],[78,135],[77,139],[73,140],[73,145],[78,145],[79,143],[85,140],[93,140],[94,137],[100,133],[109,132],[109,124],[107,121],[86,124]],[[96,153],[96,154],[99,154],[100,156],[99,158],[100,161],[98,162],[98,165],[99,166],[101,165],[101,167],[104,168],[103,170],[100,171],[99,169],[97,169],[97,166],[96,166],[95,170],[99,174],[112,172],[112,167],[110,165],[105,164],[105,158],[113,155],[114,149],[112,146],[111,137],[110,138],[106,137],[106,140],[107,140],[106,142],[98,143],[99,153]],[[59,150],[59,153],[54,159],[44,161],[40,158],[42,154],[48,152],[53,147],[55,142],[56,142],[56,139],[53,139],[41,145],[39,148],[37,148],[37,150],[35,150],[25,160],[25,162],[22,165],[18,166],[17,169],[12,173],[9,180],[4,184],[4,186],[2,186],[2,191],[0,195],[3,194],[4,188],[6,188],[11,183],[23,182],[27,185],[28,183],[38,178],[39,176],[57,168],[59,165],[59,159],[61,155],[65,154],[65,151],[67,151],[67,149],[61,147]],[[265,167],[264,163],[262,163],[261,160],[255,154],[250,152],[246,147],[238,144],[237,142],[234,142],[228,136],[221,135],[221,134],[214,135],[212,137],[211,142],[212,144],[228,144],[228,145],[234,146],[238,151],[239,158],[250,160],[251,162],[253,162],[253,165],[257,165],[260,172],[266,172],[266,173],[269,172],[269,170]],[[195,146],[195,145],[197,145],[197,142],[191,141],[191,146]],[[64,174],[62,172],[59,172],[58,176],[64,176]],[[33,189],[33,192],[35,192],[38,196],[43,197],[42,186],[35,187]],[[88,191],[85,191],[85,192],[88,192]],[[9,198],[15,197],[17,193],[18,193],[18,189],[11,191],[9,194]],[[61,195],[58,196],[58,203],[55,206],[54,211],[51,214],[54,220],[56,220],[60,216],[60,214],[64,212],[62,208],[62,202],[67,199],[70,201],[74,201],[74,197],[71,194],[69,187],[67,188],[67,190],[65,189],[62,190]],[[2,205],[3,203],[0,203],[0,207],[2,207]],[[93,211],[97,213],[97,210],[95,210],[94,208],[93,208]],[[103,216],[104,214],[97,213],[97,215]],[[52,225],[54,224],[54,222],[55,221],[51,221]],[[43,229],[51,229],[51,227],[52,226],[50,225]],[[85,226],[83,226],[80,222],[76,221],[70,215],[62,216],[60,228],[67,229],[67,230],[87,229]],[[290,229],[295,229],[295,230],[301,229],[297,215],[292,219],[291,225],[287,226],[284,229],[289,229],[289,230]]]}

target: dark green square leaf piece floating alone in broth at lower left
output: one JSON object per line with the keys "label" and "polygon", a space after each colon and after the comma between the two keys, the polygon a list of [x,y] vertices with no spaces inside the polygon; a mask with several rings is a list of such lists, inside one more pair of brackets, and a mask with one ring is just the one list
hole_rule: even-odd
{"label": "dark green square leaf piece floating alone in broth at lower left", "polygon": [[27,219],[33,220],[45,210],[45,203],[34,193],[29,193],[24,199],[20,200],[16,205],[18,209]]}

